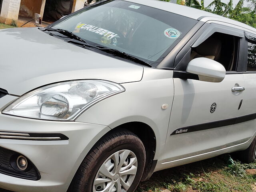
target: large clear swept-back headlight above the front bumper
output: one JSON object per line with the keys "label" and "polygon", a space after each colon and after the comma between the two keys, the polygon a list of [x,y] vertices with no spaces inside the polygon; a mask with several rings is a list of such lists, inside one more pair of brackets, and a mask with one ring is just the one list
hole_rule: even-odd
{"label": "large clear swept-back headlight above the front bumper", "polygon": [[61,82],[25,94],[2,113],[44,120],[74,120],[97,102],[124,91],[119,84],[104,80]]}

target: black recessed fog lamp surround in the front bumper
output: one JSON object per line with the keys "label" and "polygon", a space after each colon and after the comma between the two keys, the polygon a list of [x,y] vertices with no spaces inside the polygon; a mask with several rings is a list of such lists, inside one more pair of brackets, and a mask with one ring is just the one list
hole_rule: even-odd
{"label": "black recessed fog lamp surround in the front bumper", "polygon": [[15,168],[16,158],[20,155],[17,152],[0,147],[0,173],[27,180],[39,180],[40,174],[29,160],[27,170],[18,171]]}

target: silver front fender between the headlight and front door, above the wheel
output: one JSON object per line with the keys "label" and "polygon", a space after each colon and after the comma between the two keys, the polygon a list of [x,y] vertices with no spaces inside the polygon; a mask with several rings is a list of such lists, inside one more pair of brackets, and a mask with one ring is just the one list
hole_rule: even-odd
{"label": "silver front fender between the headlight and front door, above the wheel", "polygon": [[[128,122],[145,123],[155,133],[158,159],[163,152],[174,96],[172,74],[168,70],[145,68],[140,82],[122,84],[125,92],[92,106],[76,122],[97,122],[112,129]],[[166,110],[161,108],[163,104],[168,104]]]}

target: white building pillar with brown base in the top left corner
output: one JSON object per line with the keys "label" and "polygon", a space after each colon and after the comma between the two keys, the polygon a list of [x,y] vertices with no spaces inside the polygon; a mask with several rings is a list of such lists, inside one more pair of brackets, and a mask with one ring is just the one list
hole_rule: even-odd
{"label": "white building pillar with brown base in the top left corner", "polygon": [[0,22],[11,24],[12,20],[18,20],[20,12],[20,0],[3,0],[0,14]]}

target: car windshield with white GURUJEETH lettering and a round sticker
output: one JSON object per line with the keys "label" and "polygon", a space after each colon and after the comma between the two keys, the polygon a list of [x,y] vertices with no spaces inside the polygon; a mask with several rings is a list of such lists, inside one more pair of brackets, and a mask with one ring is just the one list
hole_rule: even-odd
{"label": "car windshield with white GURUJEETH lettering and a round sticker", "polygon": [[164,10],[114,0],[84,8],[50,27],[68,30],[90,44],[125,52],[153,66],[196,22]]}

